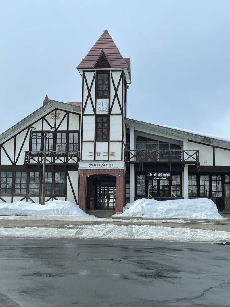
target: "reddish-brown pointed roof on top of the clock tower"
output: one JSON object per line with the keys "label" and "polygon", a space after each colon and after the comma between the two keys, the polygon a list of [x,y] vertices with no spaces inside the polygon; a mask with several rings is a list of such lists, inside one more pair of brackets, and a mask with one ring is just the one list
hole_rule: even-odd
{"label": "reddish-brown pointed roof on top of the clock tower", "polygon": [[111,68],[128,68],[127,62],[121,55],[121,52],[118,50],[107,30],[104,31],[77,68],[94,68],[102,55],[102,50]]}

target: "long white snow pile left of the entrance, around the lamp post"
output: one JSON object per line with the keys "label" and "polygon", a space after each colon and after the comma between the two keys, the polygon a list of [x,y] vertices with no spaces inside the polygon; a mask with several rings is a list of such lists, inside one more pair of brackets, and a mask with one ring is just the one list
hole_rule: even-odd
{"label": "long white snow pile left of the entrance, around the lamp post", "polygon": [[0,215],[85,215],[78,205],[64,200],[51,200],[44,205],[27,201],[0,203]]}

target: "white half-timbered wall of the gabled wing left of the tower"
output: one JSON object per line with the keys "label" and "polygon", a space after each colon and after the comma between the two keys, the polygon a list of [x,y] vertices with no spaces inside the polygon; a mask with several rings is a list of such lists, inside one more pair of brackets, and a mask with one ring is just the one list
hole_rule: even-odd
{"label": "white half-timbered wall of the gabled wing left of the tower", "polygon": [[[78,139],[78,148],[75,148],[74,151],[79,151],[81,140],[80,118],[81,116],[77,113],[55,109],[41,118],[35,119],[32,124],[0,144],[0,202],[17,200],[40,202],[43,163],[38,164],[33,159],[25,161],[25,151],[30,152],[32,150],[32,137],[29,127],[35,127],[34,132],[41,135],[44,135],[44,131],[50,133],[50,127],[56,127],[52,140],[53,151],[60,150],[57,142],[61,133],[66,136],[64,149],[73,151],[71,138],[74,134],[75,140]],[[42,151],[43,139],[40,139],[40,142],[40,151]],[[59,157],[53,163],[49,163],[50,161],[51,158],[48,157],[46,173],[49,173],[51,188],[46,193],[45,200],[69,200],[77,204],[79,188],[78,157],[75,157],[75,160]],[[35,183],[35,180],[31,178],[34,173],[36,173]],[[7,174],[8,177],[10,176],[9,178],[6,178]],[[60,181],[62,183],[58,190]],[[36,187],[32,189],[32,186]]]}

